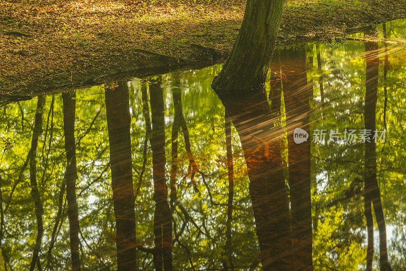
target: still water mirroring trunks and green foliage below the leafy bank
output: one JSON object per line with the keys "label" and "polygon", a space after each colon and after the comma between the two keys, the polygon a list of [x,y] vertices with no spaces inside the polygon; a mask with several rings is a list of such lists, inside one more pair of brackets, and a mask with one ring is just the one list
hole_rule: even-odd
{"label": "still water mirroring trunks and green foliage below the leafy bank", "polygon": [[2,106],[6,268],[406,269],[405,26]]}

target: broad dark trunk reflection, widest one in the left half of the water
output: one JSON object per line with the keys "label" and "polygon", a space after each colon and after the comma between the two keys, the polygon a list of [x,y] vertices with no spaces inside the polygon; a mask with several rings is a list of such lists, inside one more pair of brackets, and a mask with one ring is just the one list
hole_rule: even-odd
{"label": "broad dark trunk reflection, widest one in the left half of the water", "polygon": [[136,269],[136,215],[132,185],[130,113],[128,87],[106,89],[106,113],[110,142],[110,167],[116,217],[117,265],[119,270]]}

